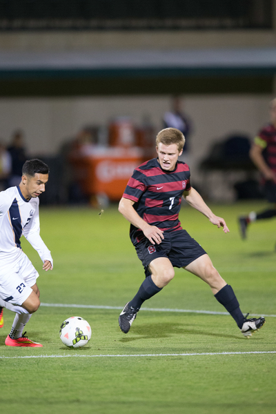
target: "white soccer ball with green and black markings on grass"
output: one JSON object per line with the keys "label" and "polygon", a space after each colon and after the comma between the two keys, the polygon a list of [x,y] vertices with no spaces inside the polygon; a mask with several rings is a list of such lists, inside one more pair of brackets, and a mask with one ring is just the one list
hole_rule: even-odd
{"label": "white soccer ball with green and black markings on grass", "polygon": [[59,337],[69,348],[81,348],[91,337],[90,324],[79,316],[68,317],[59,329]]}

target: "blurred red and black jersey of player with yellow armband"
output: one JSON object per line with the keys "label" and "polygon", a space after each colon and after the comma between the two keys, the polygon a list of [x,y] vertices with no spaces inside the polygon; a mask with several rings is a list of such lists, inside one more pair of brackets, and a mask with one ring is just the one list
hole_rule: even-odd
{"label": "blurred red and black jersey of player with yellow armband", "polygon": [[264,159],[266,164],[276,172],[276,128],[269,124],[260,130],[255,139],[256,144],[264,148]]}

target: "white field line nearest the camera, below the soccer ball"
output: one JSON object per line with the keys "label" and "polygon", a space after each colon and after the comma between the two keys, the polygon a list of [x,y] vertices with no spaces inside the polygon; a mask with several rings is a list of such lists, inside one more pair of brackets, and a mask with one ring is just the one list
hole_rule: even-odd
{"label": "white field line nearest the camera, below the soccer ball", "polygon": [[250,355],[250,354],[275,354],[276,351],[250,351],[250,352],[206,352],[206,353],[161,353],[161,354],[130,354],[130,355],[25,355],[23,357],[0,357],[0,359],[24,359],[24,358],[130,358],[130,357],[195,357],[206,355]]}

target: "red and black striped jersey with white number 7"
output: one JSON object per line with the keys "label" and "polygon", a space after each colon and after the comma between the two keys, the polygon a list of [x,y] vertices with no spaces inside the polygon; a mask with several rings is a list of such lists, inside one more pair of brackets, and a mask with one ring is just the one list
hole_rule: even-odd
{"label": "red and black striped jersey with white number 7", "polygon": [[[161,230],[181,229],[178,218],[181,197],[190,190],[190,169],[177,161],[175,170],[162,170],[157,158],[135,168],[123,197],[135,201],[133,207],[148,224]],[[132,243],[139,242],[144,233],[130,225]]]}

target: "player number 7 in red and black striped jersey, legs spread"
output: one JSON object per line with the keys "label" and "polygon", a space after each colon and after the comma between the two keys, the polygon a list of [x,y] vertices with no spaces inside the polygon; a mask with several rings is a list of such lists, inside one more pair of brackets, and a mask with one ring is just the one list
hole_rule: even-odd
{"label": "player number 7 in red and black striped jersey, legs spread", "polygon": [[212,224],[222,227],[224,233],[229,231],[224,219],[217,217],[190,185],[189,167],[178,161],[184,144],[181,131],[161,130],[156,139],[157,158],[135,168],[119,202],[119,212],[130,221],[130,239],[146,274],[135,297],[121,311],[119,326],[128,333],[144,301],[159,293],[175,276],[173,268],[178,267],[206,282],[242,334],[250,337],[263,326],[264,317],[244,317],[233,288],[219,275],[206,251],[181,228],[178,215],[183,196]]}

